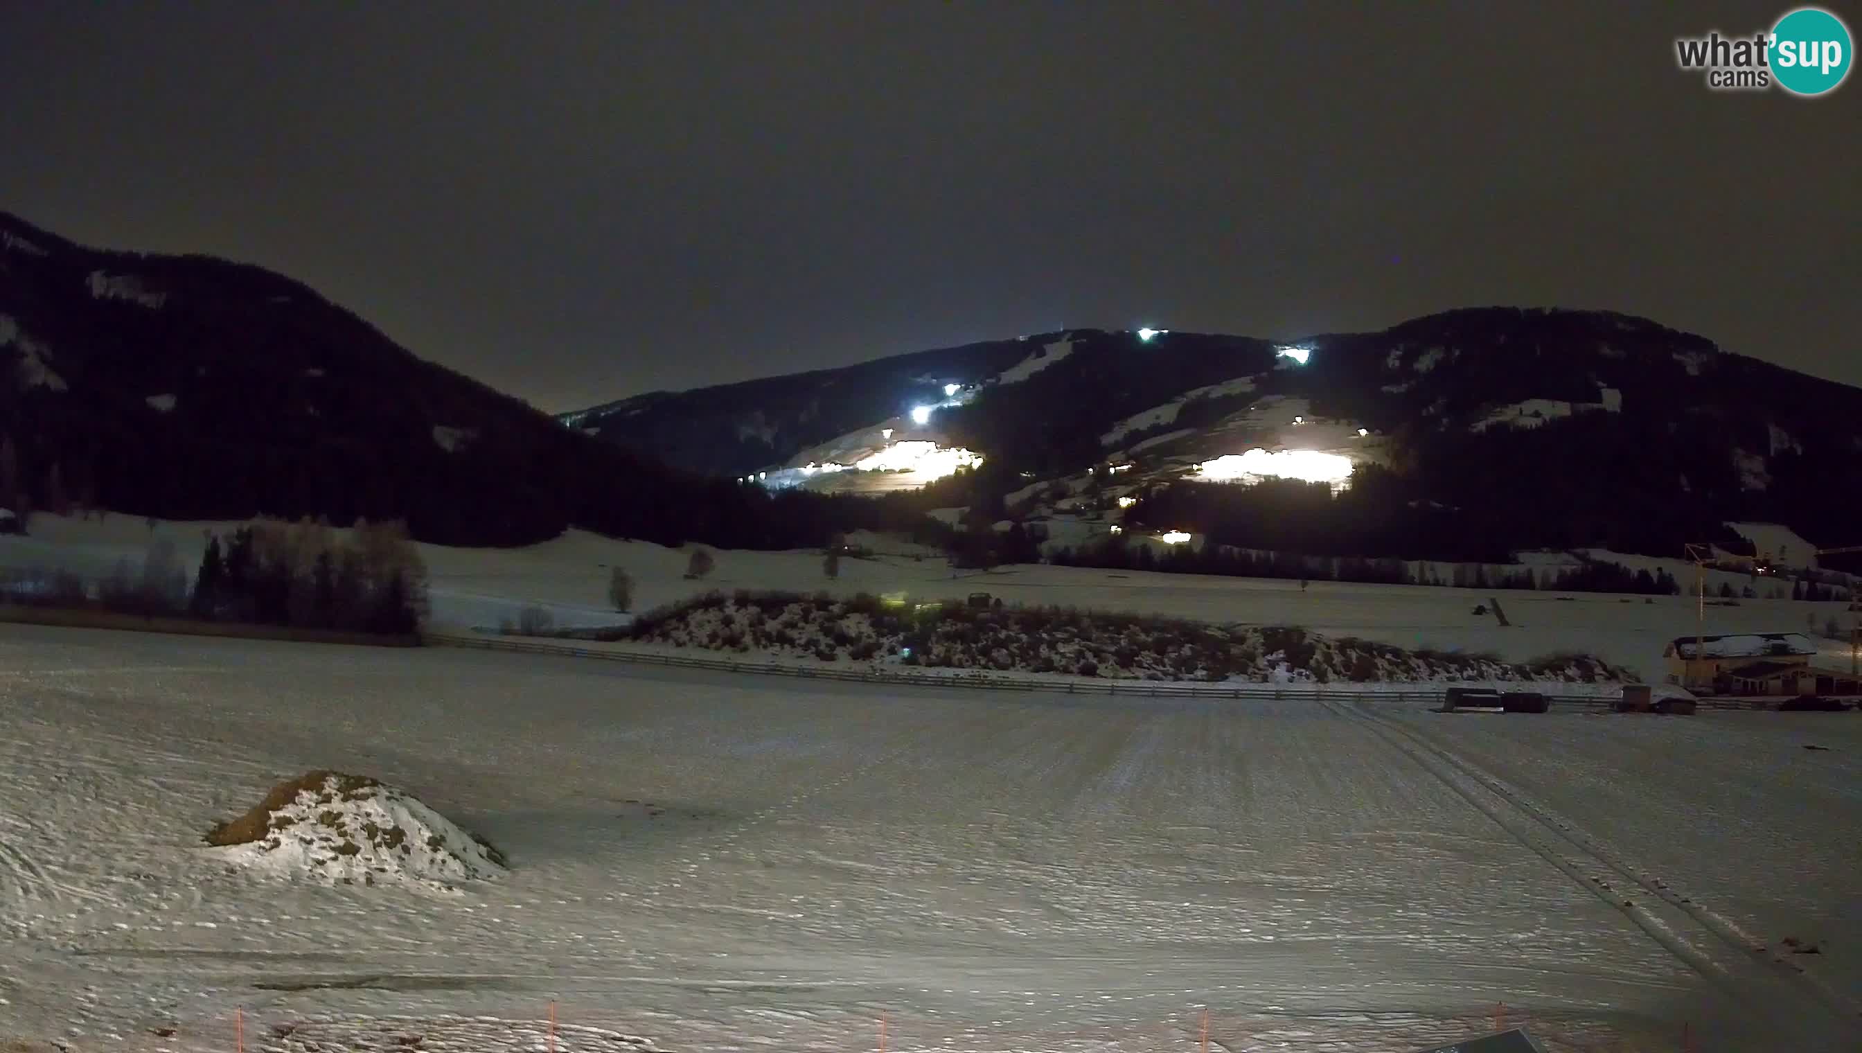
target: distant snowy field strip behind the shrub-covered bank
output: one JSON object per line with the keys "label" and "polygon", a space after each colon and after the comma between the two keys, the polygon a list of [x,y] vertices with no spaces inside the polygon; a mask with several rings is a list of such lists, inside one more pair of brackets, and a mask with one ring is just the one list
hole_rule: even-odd
{"label": "distant snowy field strip behind the shrub-covered bank", "polygon": [[[233,524],[160,524],[156,531],[175,540],[192,568],[205,544],[203,529]],[[0,567],[69,567],[102,576],[121,557],[140,559],[151,531],[142,520],[34,518],[34,537],[0,537]],[[816,552],[719,552],[717,568],[702,581],[685,580],[687,552],[646,542],[620,542],[583,531],[516,550],[421,546],[432,572],[436,624],[497,626],[516,619],[518,608],[547,608],[555,624],[613,624],[607,608],[609,567],[626,567],[635,578],[635,609],[687,598],[708,589],[791,589],[853,593],[907,593],[912,600],[963,600],[987,591],[1005,602],[1061,604],[1076,608],[1160,613],[1182,619],[1242,624],[1298,624],[1331,637],[1356,636],[1404,649],[1491,650],[1506,662],[1531,662],[1551,652],[1596,654],[1633,669],[1648,682],[1666,677],[1661,658],[1668,641],[1696,632],[1696,606],[1685,596],[1614,596],[1596,593],[1527,593],[1491,589],[1445,589],[1419,585],[1359,585],[1261,578],[1214,578],[1201,574],[1145,574],[1082,567],[1005,567],[989,574],[953,576],[946,561],[924,555],[909,542],[855,537],[879,554],[875,559],[843,559],[840,578],[821,574]],[[922,559],[914,559],[912,554]],[[1631,568],[1666,568],[1681,581],[1693,568],[1680,561],[1620,557]],[[1720,581],[1745,583],[1741,574],[1709,572],[1709,589]],[[1510,628],[1477,604],[1497,596]],[[1741,600],[1739,606],[1706,608],[1707,634],[1726,632],[1821,632],[1828,619],[1847,628],[1845,604],[1789,600]],[[1849,667],[1847,641],[1819,639],[1819,665]]]}

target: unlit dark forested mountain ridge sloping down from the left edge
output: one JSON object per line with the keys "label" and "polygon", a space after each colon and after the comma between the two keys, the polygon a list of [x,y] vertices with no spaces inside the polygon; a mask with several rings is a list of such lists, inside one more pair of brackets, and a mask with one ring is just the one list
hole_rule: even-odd
{"label": "unlit dark forested mountain ridge sloping down from the left edge", "polygon": [[782,544],[762,494],[667,470],[417,358],[300,281],[108,252],[0,212],[0,505],[404,518],[447,544],[583,526]]}

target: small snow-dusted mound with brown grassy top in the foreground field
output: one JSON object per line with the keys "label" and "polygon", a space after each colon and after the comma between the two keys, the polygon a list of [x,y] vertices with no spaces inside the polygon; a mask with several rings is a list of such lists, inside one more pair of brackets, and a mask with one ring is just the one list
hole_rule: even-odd
{"label": "small snow-dusted mound with brown grassy top in the foreground field", "polygon": [[404,790],[341,772],[309,772],[274,786],[207,842],[235,865],[322,885],[449,889],[505,870],[495,848]]}

